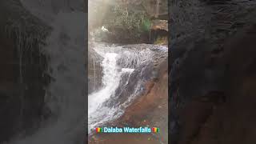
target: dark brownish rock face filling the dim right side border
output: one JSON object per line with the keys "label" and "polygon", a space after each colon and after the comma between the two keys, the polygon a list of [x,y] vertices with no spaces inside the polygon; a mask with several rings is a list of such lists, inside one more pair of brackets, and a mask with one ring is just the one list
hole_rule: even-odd
{"label": "dark brownish rock face filling the dim right side border", "polygon": [[255,142],[250,125],[255,6],[232,0],[170,2],[174,144]]}

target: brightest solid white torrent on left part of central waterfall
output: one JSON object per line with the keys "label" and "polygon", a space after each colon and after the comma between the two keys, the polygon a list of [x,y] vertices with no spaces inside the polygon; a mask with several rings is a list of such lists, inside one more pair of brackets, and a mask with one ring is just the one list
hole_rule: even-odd
{"label": "brightest solid white torrent on left part of central waterfall", "polygon": [[106,100],[114,96],[115,90],[119,86],[122,74],[131,74],[134,69],[123,68],[119,70],[117,61],[118,54],[106,53],[103,54],[103,87],[101,90],[90,94],[88,99],[88,128],[89,131],[100,123],[110,121],[111,119],[118,118],[122,111],[118,111],[114,107],[102,106]]}

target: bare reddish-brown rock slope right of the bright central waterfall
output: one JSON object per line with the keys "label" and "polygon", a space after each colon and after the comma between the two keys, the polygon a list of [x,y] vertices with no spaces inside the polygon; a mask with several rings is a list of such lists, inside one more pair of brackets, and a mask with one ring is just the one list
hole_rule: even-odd
{"label": "bare reddish-brown rock slope right of the bright central waterfall", "polygon": [[168,130],[166,128],[168,123],[167,65],[167,58],[163,58],[159,64],[155,65],[154,69],[156,69],[158,77],[146,82],[144,94],[136,99],[118,120],[124,126],[126,123],[131,126],[158,126],[161,134],[155,137],[162,143],[168,143]]}

